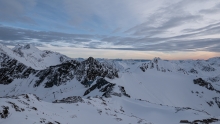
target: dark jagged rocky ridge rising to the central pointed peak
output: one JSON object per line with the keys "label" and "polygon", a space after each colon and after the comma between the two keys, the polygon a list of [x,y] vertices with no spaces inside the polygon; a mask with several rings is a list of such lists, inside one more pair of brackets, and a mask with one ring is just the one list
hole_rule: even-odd
{"label": "dark jagged rocky ridge rising to the central pointed peak", "polygon": [[107,77],[110,79],[118,77],[118,71],[89,57],[82,62],[71,60],[57,66],[51,66],[38,72],[36,76],[39,77],[39,80],[36,81],[35,86],[39,86],[46,79],[45,88],[52,87],[53,85],[59,86],[73,78],[87,86],[88,81],[94,81],[96,77]]}

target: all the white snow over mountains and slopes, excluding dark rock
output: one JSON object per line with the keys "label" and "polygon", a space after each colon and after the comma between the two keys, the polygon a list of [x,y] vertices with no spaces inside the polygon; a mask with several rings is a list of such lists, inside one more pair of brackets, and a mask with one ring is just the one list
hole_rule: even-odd
{"label": "all the white snow over mountains and slopes, excluding dark rock", "polygon": [[[37,70],[71,60],[59,53],[40,51],[32,45],[9,49],[0,44],[0,52]],[[63,61],[60,61],[60,57],[64,58]],[[115,84],[111,93],[123,94],[120,90],[123,86],[130,98],[125,95],[105,98],[100,89],[94,89],[84,96],[89,87],[76,78],[51,88],[44,88],[45,79],[40,86],[34,87],[37,77],[31,74],[28,78],[15,79],[8,85],[0,84],[0,106],[8,106],[10,112],[7,118],[0,119],[0,123],[177,124],[180,120],[220,119],[220,108],[213,100],[219,98],[220,94],[193,82],[202,78],[220,90],[219,57],[181,61],[160,58],[151,61],[98,60],[106,67],[118,70],[118,78],[105,78]],[[89,68],[89,65],[85,68]],[[95,84],[96,80],[91,87]],[[29,99],[21,94],[27,94]],[[41,100],[37,100],[33,94]],[[82,98],[83,102],[54,103],[55,100],[74,96]],[[207,104],[210,101],[214,102],[212,106]],[[15,111],[9,102],[25,111]],[[0,112],[2,110],[0,107]]]}

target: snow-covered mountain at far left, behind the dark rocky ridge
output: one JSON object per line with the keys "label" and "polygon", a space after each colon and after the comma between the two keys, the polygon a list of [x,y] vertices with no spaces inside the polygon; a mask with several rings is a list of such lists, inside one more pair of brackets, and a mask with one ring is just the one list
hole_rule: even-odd
{"label": "snow-covered mountain at far left, behind the dark rocky ridge", "polygon": [[[0,54],[6,54],[8,57],[37,70],[70,60],[65,55],[48,50],[41,51],[31,44],[17,45],[12,49],[0,44]],[[0,61],[3,60],[4,58],[1,56]]]}

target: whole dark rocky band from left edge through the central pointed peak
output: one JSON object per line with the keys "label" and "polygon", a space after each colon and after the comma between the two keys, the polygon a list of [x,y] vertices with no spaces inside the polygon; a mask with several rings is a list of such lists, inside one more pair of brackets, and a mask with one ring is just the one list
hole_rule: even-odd
{"label": "whole dark rocky band from left edge through the central pointed peak", "polygon": [[88,81],[94,81],[96,77],[107,77],[110,79],[118,77],[118,70],[112,66],[106,66],[90,57],[85,61],[76,60],[50,66],[44,70],[35,70],[31,67],[11,59],[4,53],[1,55],[0,84],[10,84],[15,79],[25,79],[30,75],[36,77],[34,87],[44,84],[45,88],[59,86],[76,78],[83,85]]}

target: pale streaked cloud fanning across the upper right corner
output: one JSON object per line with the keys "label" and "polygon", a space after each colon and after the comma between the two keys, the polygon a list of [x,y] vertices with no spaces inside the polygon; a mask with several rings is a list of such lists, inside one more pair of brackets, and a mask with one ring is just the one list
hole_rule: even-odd
{"label": "pale streaked cloud fanning across the upper right corner", "polygon": [[220,17],[216,13],[214,13],[215,16],[201,14],[204,8],[210,8],[213,5],[214,9],[219,8],[220,2],[198,0],[171,2],[171,4],[158,8],[147,17],[145,22],[126,30],[125,33],[145,37],[174,37],[193,34],[190,29],[198,30],[220,22]]}

